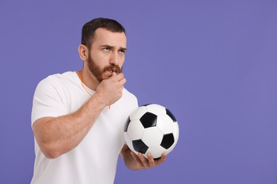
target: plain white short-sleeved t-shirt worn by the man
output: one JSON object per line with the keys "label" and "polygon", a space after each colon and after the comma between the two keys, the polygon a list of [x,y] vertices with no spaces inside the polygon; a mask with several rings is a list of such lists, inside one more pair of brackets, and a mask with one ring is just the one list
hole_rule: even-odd
{"label": "plain white short-sleeved t-shirt worn by the man", "polygon": [[[89,97],[76,72],[48,76],[36,88],[32,125],[41,117],[74,113]],[[82,142],[57,159],[47,159],[35,139],[36,160],[31,183],[114,183],[117,159],[125,143],[124,124],[137,107],[136,97],[124,88],[122,97],[110,109],[102,110]]]}

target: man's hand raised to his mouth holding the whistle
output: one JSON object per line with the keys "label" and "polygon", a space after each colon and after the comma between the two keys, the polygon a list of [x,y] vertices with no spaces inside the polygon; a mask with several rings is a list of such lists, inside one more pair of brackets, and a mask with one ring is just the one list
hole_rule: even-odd
{"label": "man's hand raised to his mouth holding the whistle", "polygon": [[96,89],[96,96],[102,100],[105,106],[112,105],[122,96],[122,90],[126,79],[124,74],[112,73],[112,76],[109,79],[104,79]]}

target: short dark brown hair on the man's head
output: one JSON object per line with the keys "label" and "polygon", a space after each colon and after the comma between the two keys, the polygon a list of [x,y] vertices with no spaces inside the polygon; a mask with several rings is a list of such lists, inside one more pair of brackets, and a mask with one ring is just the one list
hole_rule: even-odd
{"label": "short dark brown hair on the man's head", "polygon": [[[112,31],[113,33],[125,33],[124,27],[117,21],[109,18],[94,18],[92,21],[85,23],[82,27],[82,45],[89,48],[92,45],[94,38],[94,32],[97,28],[104,28]],[[126,33],[125,33],[126,34]]]}

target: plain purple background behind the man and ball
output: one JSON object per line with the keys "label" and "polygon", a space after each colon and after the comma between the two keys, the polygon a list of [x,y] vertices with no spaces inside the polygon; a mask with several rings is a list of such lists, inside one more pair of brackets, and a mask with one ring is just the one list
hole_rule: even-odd
{"label": "plain purple background behind the man and ball", "polygon": [[157,168],[115,183],[277,183],[277,1],[0,1],[0,183],[30,183],[38,82],[82,68],[82,25],[124,25],[126,88],[178,119]]}

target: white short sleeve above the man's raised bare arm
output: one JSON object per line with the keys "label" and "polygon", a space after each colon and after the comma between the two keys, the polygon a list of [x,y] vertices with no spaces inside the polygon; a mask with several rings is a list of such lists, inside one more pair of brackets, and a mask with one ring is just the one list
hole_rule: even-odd
{"label": "white short sleeve above the man's raised bare arm", "polygon": [[31,123],[41,117],[59,117],[67,114],[59,86],[55,81],[46,78],[40,81],[33,96]]}

